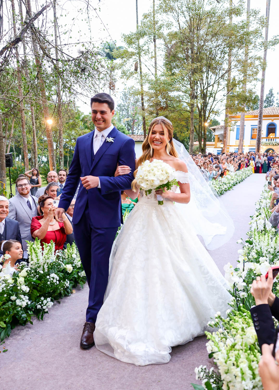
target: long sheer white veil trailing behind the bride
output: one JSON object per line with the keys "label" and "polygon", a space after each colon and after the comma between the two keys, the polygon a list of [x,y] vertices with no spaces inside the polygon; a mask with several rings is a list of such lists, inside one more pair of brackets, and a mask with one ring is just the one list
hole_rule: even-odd
{"label": "long sheer white veil trailing behind the bride", "polygon": [[207,249],[219,248],[233,236],[233,220],[217,193],[214,194],[205,181],[184,145],[174,139],[173,142],[178,158],[187,165],[191,190],[190,202],[187,205],[176,203],[176,206],[179,207],[181,215],[191,221],[195,233],[203,238]]}

